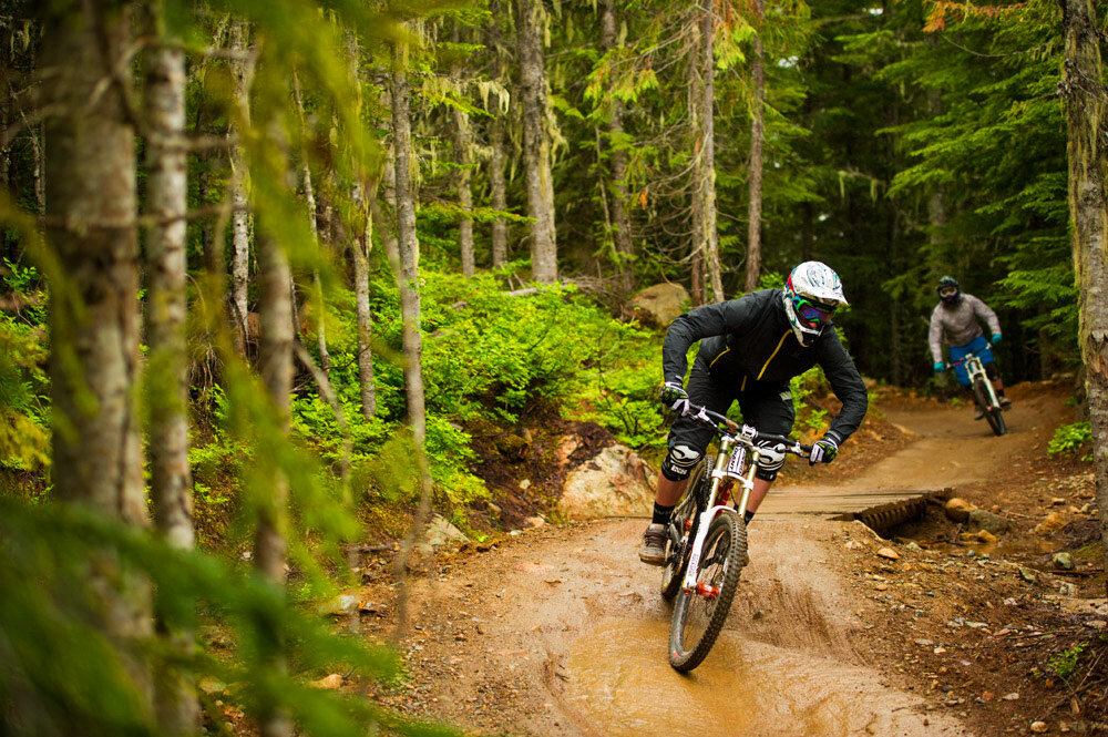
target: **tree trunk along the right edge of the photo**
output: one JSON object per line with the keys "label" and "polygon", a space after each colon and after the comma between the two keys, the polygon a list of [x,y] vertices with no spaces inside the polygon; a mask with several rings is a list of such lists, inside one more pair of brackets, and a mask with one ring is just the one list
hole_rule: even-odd
{"label": "tree trunk along the right edge of the photo", "polygon": [[1069,212],[1074,265],[1080,287],[1080,345],[1086,367],[1092,458],[1096,465],[1100,534],[1108,564],[1108,231],[1106,158],[1100,141],[1108,133],[1096,9],[1089,0],[1065,0],[1063,28],[1069,158]]}

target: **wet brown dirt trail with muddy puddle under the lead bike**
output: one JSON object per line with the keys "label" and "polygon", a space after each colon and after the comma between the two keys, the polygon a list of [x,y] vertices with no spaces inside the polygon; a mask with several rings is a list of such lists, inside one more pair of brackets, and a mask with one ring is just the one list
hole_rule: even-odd
{"label": "wet brown dirt trail with muddy puddle under the lead bike", "polygon": [[[919,438],[849,489],[986,478],[1065,419],[1057,397],[1017,402],[1010,433],[995,438],[968,412],[888,410]],[[868,530],[797,511],[779,505],[751,526],[752,560],[728,625],[691,676],[667,662],[659,571],[636,557],[643,521],[607,520],[460,553],[421,581],[419,624],[404,643],[411,679],[384,700],[475,735],[975,734],[890,685],[855,647],[873,625],[860,617],[866,596],[847,556]]]}

